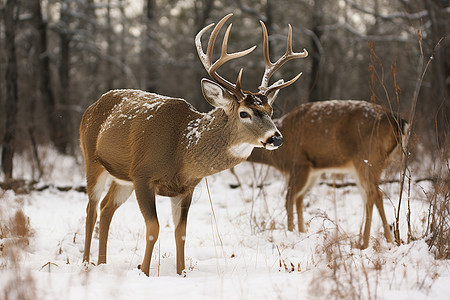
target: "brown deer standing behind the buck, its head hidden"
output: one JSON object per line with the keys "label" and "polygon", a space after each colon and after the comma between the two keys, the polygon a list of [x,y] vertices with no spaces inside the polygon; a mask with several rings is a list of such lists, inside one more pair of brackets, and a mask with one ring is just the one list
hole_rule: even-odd
{"label": "brown deer standing behind the buck, its head hidden", "polygon": [[331,100],[300,105],[274,122],[283,135],[283,146],[271,152],[255,149],[247,160],[273,166],[287,176],[288,230],[294,229],[295,203],[298,230],[304,232],[303,197],[322,173],[330,171],[354,177],[364,200],[363,242],[358,247],[369,245],[374,204],[384,236],[393,242],[378,184],[388,156],[406,134],[406,121],[380,105]]}

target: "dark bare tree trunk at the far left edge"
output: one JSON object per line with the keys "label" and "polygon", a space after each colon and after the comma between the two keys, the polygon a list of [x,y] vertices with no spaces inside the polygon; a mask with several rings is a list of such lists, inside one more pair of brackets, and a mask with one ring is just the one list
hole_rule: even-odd
{"label": "dark bare tree trunk at the far left edge", "polygon": [[12,179],[14,140],[17,120],[18,89],[17,89],[17,61],[15,46],[15,20],[14,8],[16,0],[7,0],[5,4],[5,48],[7,55],[6,64],[6,131],[3,136],[2,171],[5,181]]}

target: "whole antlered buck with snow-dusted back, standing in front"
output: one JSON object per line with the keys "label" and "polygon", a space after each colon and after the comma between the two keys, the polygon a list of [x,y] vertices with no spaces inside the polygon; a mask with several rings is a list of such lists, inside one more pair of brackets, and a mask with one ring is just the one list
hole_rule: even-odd
{"label": "whole antlered buck with snow-dusted back, standing in front", "polygon": [[[108,230],[116,209],[133,190],[146,225],[146,247],[140,269],[148,276],[153,247],[159,235],[155,194],[171,197],[175,223],[177,273],[185,269],[184,245],[189,206],[195,186],[203,177],[244,161],[254,147],[276,149],[282,136],[271,119],[272,104],[281,88],[294,83],[269,79],[286,61],[306,57],[306,50],[292,52],[289,28],[286,54],[275,64],[265,57],[266,68],[258,93],[241,90],[242,69],[236,84],[225,80],[217,69],[225,62],[247,55],[227,53],[231,24],[223,38],[221,55],[212,62],[213,47],[225,16],[213,29],[206,53],[201,37],[195,37],[200,60],[213,81],[202,79],[205,99],[215,107],[200,113],[183,99],[139,90],[113,90],[92,104],[80,125],[81,148],[85,159],[89,203],[83,260],[89,262],[97,205],[107,177],[111,186],[100,205],[98,263],[106,263]],[[267,32],[264,24],[264,39]]]}

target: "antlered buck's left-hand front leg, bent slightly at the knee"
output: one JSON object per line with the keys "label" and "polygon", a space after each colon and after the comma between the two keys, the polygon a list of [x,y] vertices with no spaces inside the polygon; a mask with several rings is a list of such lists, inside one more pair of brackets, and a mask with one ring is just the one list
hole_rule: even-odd
{"label": "antlered buck's left-hand front leg, bent slightly at the knee", "polygon": [[150,186],[147,180],[134,182],[136,199],[139,204],[142,216],[145,221],[145,254],[141,264],[141,271],[145,275],[150,274],[150,262],[153,253],[153,247],[159,235],[159,222],[156,213],[155,190]]}

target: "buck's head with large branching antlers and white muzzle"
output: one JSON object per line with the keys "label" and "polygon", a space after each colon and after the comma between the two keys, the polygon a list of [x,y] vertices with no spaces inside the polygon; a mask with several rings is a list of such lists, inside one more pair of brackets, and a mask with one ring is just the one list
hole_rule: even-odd
{"label": "buck's head with large branching antlers and white muzzle", "polygon": [[[245,137],[245,142],[242,141],[242,143],[239,144],[239,141],[237,141],[235,149],[241,150],[247,148],[247,151],[243,151],[242,155],[248,156],[252,147],[264,147],[266,149],[273,150],[282,144],[283,137],[270,119],[273,113],[272,104],[275,101],[279,90],[294,83],[301,76],[301,73],[288,82],[279,80],[271,86],[269,86],[269,80],[274,72],[278,70],[285,62],[293,58],[304,58],[308,56],[308,52],[306,50],[303,50],[301,53],[294,53],[292,51],[292,28],[289,25],[286,53],[276,63],[272,63],[269,58],[267,30],[264,23],[261,21],[264,37],[263,50],[266,65],[265,72],[261,85],[258,88],[258,92],[253,93],[243,91],[241,89],[243,69],[240,70],[235,84],[224,79],[216,72],[217,69],[227,61],[247,55],[256,48],[256,46],[253,46],[241,52],[228,54],[227,44],[232,24],[228,26],[225,32],[219,59],[214,63],[212,62],[213,48],[217,35],[224,23],[232,15],[233,14],[226,15],[222,18],[222,20],[220,20],[217,26],[214,27],[208,42],[206,53],[203,52],[201,37],[207,30],[214,26],[214,24],[206,26],[197,34],[195,37],[195,44],[203,66],[209,76],[214,80],[202,80],[203,95],[211,105],[224,109],[230,118],[236,118],[236,120],[239,120],[236,122],[236,126],[238,127],[238,132],[242,133],[242,136]],[[249,137],[255,136],[255,131],[260,131],[264,133],[264,135],[260,135],[253,138],[252,141],[249,141]],[[247,144],[248,147],[242,146],[243,144]]]}

